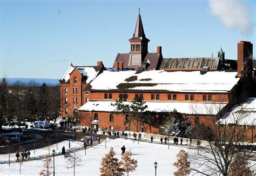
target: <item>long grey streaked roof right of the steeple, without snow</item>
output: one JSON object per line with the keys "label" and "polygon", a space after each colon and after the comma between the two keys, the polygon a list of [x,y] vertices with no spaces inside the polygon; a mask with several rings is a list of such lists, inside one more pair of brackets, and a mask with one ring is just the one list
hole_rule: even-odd
{"label": "long grey streaked roof right of the steeple, without snow", "polygon": [[217,57],[203,58],[164,58],[160,64],[160,70],[201,70],[209,66],[210,70],[221,70],[220,59]]}

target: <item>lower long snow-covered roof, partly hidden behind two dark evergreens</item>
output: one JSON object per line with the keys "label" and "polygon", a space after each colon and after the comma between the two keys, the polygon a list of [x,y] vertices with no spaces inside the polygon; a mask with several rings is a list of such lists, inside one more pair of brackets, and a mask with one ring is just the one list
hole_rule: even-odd
{"label": "lower long snow-covered roof, partly hidden behind two dark evergreens", "polygon": [[[87,101],[81,106],[79,111],[103,111],[113,112],[116,107],[111,105],[116,101]],[[131,101],[125,101],[124,103],[130,104]],[[162,102],[162,101],[146,101],[148,111],[151,112],[171,112],[176,109],[180,113],[184,114],[208,114],[215,115],[220,109],[226,105],[225,103],[188,103],[188,102]],[[216,108],[218,107],[218,108]]]}

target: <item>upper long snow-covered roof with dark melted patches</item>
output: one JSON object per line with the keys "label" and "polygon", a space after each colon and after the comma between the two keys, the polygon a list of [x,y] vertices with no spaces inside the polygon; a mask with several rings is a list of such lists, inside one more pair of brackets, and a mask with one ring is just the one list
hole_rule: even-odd
{"label": "upper long snow-covered roof with dark melted patches", "polygon": [[237,72],[151,70],[103,71],[93,82],[92,90],[159,90],[173,92],[228,92],[239,78]]}

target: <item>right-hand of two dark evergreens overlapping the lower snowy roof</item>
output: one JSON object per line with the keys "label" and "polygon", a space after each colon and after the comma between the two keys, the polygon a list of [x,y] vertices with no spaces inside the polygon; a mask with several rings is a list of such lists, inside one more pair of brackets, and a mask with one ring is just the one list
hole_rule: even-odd
{"label": "right-hand of two dark evergreens overlapping the lower snowy roof", "polygon": [[147,105],[145,105],[146,101],[143,99],[143,94],[139,94],[136,96],[130,105],[130,118],[134,120],[137,125],[137,132],[139,132],[139,121],[146,121],[146,112]]}

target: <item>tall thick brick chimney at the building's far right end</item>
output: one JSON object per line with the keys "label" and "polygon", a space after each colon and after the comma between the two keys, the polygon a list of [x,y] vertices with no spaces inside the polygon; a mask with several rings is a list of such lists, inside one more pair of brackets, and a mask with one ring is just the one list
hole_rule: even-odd
{"label": "tall thick brick chimney at the building's far right end", "polygon": [[237,75],[252,77],[252,43],[240,41],[237,44]]}

